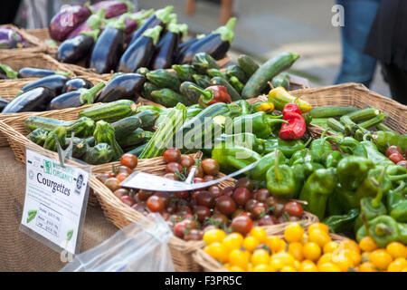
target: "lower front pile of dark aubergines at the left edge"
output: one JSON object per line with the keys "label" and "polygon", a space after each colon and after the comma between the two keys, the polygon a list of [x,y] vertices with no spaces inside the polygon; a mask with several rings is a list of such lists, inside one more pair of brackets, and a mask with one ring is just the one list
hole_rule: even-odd
{"label": "lower front pile of dark aubergines at the left edge", "polygon": [[138,73],[115,73],[106,85],[93,85],[89,80],[53,73],[26,84],[13,100],[0,98],[3,113],[48,111],[80,107],[93,102],[137,101],[145,76]]}

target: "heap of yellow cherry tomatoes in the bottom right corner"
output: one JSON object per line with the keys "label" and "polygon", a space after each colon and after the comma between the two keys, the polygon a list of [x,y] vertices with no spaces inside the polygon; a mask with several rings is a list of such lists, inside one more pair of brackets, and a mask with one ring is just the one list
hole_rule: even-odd
{"label": "heap of yellow cherry tomatoes in the bottom right corner", "polygon": [[371,237],[359,244],[335,240],[328,227],[299,223],[286,227],[283,237],[270,236],[261,227],[247,235],[211,229],[204,233],[204,252],[232,272],[406,272],[407,247],[392,242],[379,247]]}

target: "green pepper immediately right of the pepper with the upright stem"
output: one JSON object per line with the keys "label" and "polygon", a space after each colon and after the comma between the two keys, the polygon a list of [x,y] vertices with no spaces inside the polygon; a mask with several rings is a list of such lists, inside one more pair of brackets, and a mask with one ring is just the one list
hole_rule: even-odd
{"label": "green pepper immediately right of the pepper with the upright stem", "polygon": [[327,199],[334,192],[336,183],[336,169],[317,169],[312,173],[299,194],[299,199],[308,202],[304,209],[319,219],[324,218]]}

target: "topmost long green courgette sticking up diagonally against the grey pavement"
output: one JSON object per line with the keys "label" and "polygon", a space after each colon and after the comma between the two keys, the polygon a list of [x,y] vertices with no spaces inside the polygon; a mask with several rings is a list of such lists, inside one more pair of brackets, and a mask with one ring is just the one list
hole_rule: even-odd
{"label": "topmost long green courgette sticking up diagonally against the grey pavement", "polygon": [[243,92],[241,92],[242,98],[252,99],[258,97],[268,86],[267,82],[270,82],[279,73],[289,69],[298,60],[298,57],[297,53],[280,53],[266,63],[261,64],[256,73],[251,75],[249,81],[246,82]]}

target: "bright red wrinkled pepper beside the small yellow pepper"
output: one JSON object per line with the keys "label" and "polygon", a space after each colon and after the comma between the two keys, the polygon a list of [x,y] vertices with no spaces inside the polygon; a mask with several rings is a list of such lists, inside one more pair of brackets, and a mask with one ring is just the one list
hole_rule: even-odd
{"label": "bright red wrinkled pepper beside the small yellow pepper", "polygon": [[307,129],[306,121],[296,103],[288,103],[283,109],[283,120],[288,124],[282,124],[279,138],[282,140],[298,140],[304,136]]}

